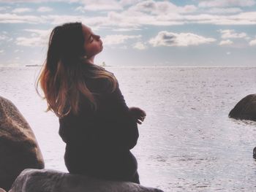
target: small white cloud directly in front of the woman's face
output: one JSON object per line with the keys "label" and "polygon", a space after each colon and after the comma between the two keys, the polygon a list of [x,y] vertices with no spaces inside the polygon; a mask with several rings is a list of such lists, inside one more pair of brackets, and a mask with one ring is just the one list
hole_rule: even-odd
{"label": "small white cloud directly in front of the woman's face", "polygon": [[114,35],[107,35],[106,37],[102,38],[103,45],[118,45],[122,44],[128,39],[138,39],[140,35],[122,35],[122,34],[114,34]]}

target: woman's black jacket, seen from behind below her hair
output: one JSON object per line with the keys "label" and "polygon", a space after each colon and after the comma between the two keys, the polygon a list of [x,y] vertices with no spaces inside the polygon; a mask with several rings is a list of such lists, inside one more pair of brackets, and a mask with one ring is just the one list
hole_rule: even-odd
{"label": "woman's black jacket, seen from behind below her hair", "polygon": [[59,119],[59,134],[67,144],[67,169],[76,174],[129,180],[137,173],[137,161],[129,151],[138,140],[136,120],[119,87],[110,93],[105,78],[86,80],[86,85],[97,93],[97,110],[91,110],[82,97],[78,115],[69,113]]}

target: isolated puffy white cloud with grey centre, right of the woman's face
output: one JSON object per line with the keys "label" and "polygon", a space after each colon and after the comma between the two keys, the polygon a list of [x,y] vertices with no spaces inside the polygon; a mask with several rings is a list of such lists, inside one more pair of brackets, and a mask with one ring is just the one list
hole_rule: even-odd
{"label": "isolated puffy white cloud with grey centre, right of the woman's face", "polygon": [[154,47],[157,46],[176,46],[176,47],[187,47],[189,45],[201,45],[211,42],[215,42],[214,38],[206,38],[197,34],[181,33],[176,34],[167,31],[160,31],[157,37],[149,40],[149,43]]}

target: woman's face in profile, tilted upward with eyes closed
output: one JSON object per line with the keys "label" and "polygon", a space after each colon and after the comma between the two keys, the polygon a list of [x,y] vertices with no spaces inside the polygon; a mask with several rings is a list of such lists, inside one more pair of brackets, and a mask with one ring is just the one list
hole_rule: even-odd
{"label": "woman's face in profile, tilted upward with eyes closed", "polygon": [[100,53],[103,49],[102,40],[99,35],[94,34],[91,28],[82,25],[84,44],[83,48],[86,51],[86,57],[91,58]]}

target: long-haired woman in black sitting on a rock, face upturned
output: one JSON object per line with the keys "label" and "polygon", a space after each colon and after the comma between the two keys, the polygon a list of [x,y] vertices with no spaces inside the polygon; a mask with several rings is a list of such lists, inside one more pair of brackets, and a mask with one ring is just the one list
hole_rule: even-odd
{"label": "long-haired woman in black sitting on a rock, face upturned", "polygon": [[146,112],[128,108],[116,77],[94,65],[102,40],[82,23],[57,26],[39,76],[48,110],[59,117],[70,173],[140,183],[136,158],[137,123]]}

